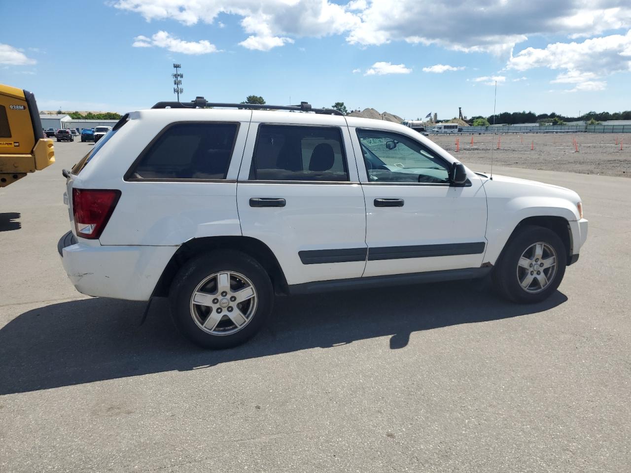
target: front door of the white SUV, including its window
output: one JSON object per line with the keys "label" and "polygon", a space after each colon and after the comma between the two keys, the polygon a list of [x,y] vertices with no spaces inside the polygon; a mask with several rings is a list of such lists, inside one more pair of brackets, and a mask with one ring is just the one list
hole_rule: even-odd
{"label": "front door of the white SUV, including its window", "polygon": [[468,171],[466,184],[452,185],[452,163],[411,132],[350,127],[350,134],[366,204],[363,276],[480,267],[487,242],[480,178]]}

